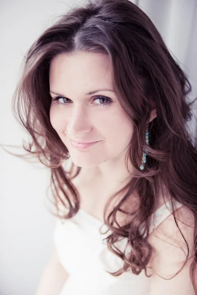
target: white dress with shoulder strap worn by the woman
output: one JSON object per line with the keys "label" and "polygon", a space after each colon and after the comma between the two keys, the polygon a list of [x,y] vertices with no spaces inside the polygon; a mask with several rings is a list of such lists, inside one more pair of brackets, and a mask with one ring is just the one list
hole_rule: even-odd
{"label": "white dress with shoulder strap worn by the woman", "polygon": [[[170,215],[170,204],[166,204],[152,216],[150,232]],[[175,203],[176,209],[181,206]],[[54,243],[61,264],[70,274],[59,295],[149,295],[150,278],[144,271],[135,275],[130,270],[117,277],[105,271],[119,270],[123,261],[108,250],[106,241],[102,242],[111,232],[101,235],[100,227],[104,233],[106,225],[82,209],[72,218],[58,221]],[[123,238],[116,245],[124,251],[126,242]]]}

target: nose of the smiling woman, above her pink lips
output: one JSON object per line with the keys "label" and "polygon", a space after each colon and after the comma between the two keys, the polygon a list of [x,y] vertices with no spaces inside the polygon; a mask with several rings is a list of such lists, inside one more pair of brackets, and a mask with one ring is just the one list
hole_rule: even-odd
{"label": "nose of the smiling woman, above her pink lips", "polygon": [[72,136],[72,138],[75,135],[90,132],[92,129],[91,120],[85,108],[73,108],[70,115],[67,114],[66,116],[68,116],[66,125],[67,134]]}

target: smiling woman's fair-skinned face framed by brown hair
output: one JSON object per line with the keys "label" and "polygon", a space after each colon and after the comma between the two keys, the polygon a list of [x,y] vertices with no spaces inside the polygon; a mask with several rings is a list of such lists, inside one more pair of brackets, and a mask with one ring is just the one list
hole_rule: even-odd
{"label": "smiling woman's fair-skinned face framed by brown hair", "polygon": [[[113,92],[112,65],[107,55],[58,55],[50,64],[49,83],[50,121],[76,166],[95,167],[125,157],[133,125]],[[59,100],[54,100],[57,96]],[[80,150],[70,139],[98,142]]]}

